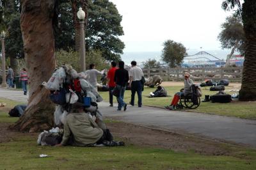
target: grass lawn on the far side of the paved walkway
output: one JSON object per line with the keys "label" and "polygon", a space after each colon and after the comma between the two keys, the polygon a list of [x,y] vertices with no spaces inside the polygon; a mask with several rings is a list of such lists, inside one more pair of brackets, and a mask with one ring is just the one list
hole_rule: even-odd
{"label": "grass lawn on the far side of the paved walkway", "polygon": [[[143,105],[150,105],[156,107],[164,107],[165,105],[170,105],[170,101],[172,101],[173,95],[177,93],[182,86],[167,86],[164,87],[168,93],[168,95],[172,95],[172,97],[163,97],[163,98],[148,98],[149,93],[151,91],[155,91],[153,88],[144,88],[142,93],[143,96]],[[226,87],[228,89],[228,87]],[[218,91],[210,91],[209,87],[202,88],[203,96],[201,100],[204,100],[204,95],[214,95]],[[227,92],[230,95],[238,92]],[[104,98],[105,101],[109,101],[108,91],[100,92],[100,95]],[[131,91],[125,91],[124,100],[129,104],[131,99]],[[114,99],[114,102],[116,100]],[[135,97],[135,102],[137,102],[137,98]],[[256,120],[256,102],[239,102],[233,101],[226,104],[221,103],[212,103],[212,102],[201,102],[200,106],[196,109],[189,109],[189,111],[196,112],[205,112],[212,114],[219,114],[223,116],[234,116],[237,118],[248,118],[252,120]]]}

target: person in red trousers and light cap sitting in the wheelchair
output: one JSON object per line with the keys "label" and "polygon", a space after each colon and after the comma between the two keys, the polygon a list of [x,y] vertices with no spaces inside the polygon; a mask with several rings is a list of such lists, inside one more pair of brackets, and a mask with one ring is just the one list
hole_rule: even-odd
{"label": "person in red trousers and light cap sitting in the wheelchair", "polygon": [[175,110],[176,105],[178,104],[181,97],[186,97],[192,93],[191,86],[194,84],[192,79],[189,79],[190,74],[188,72],[184,73],[184,88],[180,89],[180,92],[177,92],[170,105],[166,106],[166,109]]}

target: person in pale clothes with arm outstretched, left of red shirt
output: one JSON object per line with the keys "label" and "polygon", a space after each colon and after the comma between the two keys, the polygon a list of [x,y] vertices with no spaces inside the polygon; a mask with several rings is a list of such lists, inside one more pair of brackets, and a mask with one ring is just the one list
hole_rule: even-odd
{"label": "person in pale clothes with arm outstretched, left of red shirt", "polygon": [[90,84],[92,84],[92,86],[96,89],[96,91],[98,91],[97,76],[102,75],[104,73],[104,70],[102,70],[101,72],[99,70],[96,70],[94,64],[90,64],[89,67],[90,67],[89,70],[85,72],[89,75],[88,82],[90,82]]}

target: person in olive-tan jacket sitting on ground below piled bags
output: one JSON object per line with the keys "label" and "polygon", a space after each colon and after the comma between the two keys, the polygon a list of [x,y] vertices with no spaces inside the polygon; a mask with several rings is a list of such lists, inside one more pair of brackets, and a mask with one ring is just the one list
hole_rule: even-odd
{"label": "person in olive-tan jacket sitting on ground below piled bags", "polygon": [[[63,120],[64,134],[60,144],[57,146],[94,146],[104,144],[105,146],[124,146],[123,142],[112,141],[113,137],[109,130],[102,130],[94,121],[91,114],[84,112],[83,104],[77,102],[72,105],[72,111]],[[111,137],[109,137],[109,135]]]}

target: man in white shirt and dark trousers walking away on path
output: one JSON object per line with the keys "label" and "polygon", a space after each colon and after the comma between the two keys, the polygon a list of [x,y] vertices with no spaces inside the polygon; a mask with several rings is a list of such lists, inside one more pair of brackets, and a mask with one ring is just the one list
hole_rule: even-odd
{"label": "man in white shirt and dark trousers walking away on path", "polygon": [[130,83],[129,86],[131,86],[131,105],[134,105],[134,97],[135,93],[137,92],[138,95],[138,106],[141,107],[142,105],[142,88],[143,85],[141,83],[141,79],[143,76],[143,72],[140,67],[137,66],[136,61],[131,62],[132,68],[129,70],[129,76],[130,76]]}

